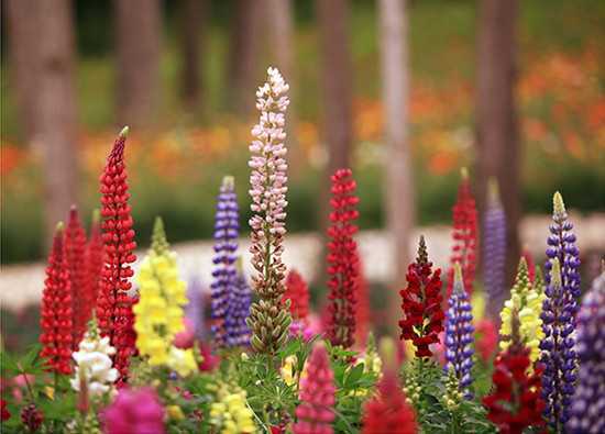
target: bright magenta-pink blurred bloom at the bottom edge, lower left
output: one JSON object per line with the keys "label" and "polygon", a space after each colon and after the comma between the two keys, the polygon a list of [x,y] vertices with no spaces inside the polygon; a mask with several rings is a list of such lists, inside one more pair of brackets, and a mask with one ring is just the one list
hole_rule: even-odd
{"label": "bright magenta-pink blurred bloom at the bottom edge, lower left", "polygon": [[102,413],[107,434],[164,434],[165,411],[153,389],[120,389],[118,397]]}

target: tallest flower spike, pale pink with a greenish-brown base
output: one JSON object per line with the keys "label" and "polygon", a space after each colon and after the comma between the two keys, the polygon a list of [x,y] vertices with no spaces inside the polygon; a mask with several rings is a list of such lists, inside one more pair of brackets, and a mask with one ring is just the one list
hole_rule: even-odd
{"label": "tallest flower spike, pale pink with a greenish-brown base", "polygon": [[274,354],[288,338],[292,322],[288,307],[282,305],[286,291],[286,266],[282,261],[286,233],[286,191],[288,190],[284,145],[285,112],[289,104],[289,87],[279,71],[268,68],[267,82],[256,91],[256,108],[261,115],[252,129],[250,145],[250,196],[253,212],[250,219],[252,287],[258,301],[251,308],[248,325],[252,330],[252,347]]}

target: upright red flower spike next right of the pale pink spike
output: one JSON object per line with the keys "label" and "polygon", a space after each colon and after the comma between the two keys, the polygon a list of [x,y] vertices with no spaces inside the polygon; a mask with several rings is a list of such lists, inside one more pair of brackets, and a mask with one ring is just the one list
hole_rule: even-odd
{"label": "upright red flower spike next right of the pale pink spike", "polygon": [[328,312],[327,334],[332,345],[349,348],[355,333],[355,302],[359,256],[353,235],[359,216],[356,183],[351,169],[339,169],[332,177],[330,227],[328,229]]}

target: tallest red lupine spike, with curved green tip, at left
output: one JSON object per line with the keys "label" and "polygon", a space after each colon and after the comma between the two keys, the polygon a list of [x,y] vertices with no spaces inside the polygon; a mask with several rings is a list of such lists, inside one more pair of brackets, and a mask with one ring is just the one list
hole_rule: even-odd
{"label": "tallest red lupine spike, with curved green tip, at left", "polygon": [[97,299],[97,320],[101,335],[109,336],[116,347],[113,363],[120,372],[120,382],[128,376],[130,357],[135,352],[133,299],[129,291],[132,288],[130,279],[134,275],[130,264],[136,260],[136,243],[124,164],[128,131],[128,126],[124,127],[116,140],[100,178],[105,266]]}

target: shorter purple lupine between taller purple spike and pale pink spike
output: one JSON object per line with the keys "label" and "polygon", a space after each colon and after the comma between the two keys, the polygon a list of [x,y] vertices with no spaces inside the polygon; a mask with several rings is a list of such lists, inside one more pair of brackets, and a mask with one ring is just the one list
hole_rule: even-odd
{"label": "shorter purple lupine between taller purple spike and pale pink spike", "polygon": [[250,329],[245,319],[250,315],[252,291],[245,276],[241,258],[238,260],[238,276],[232,286],[227,302],[227,314],[224,316],[224,334],[228,347],[250,345]]}

